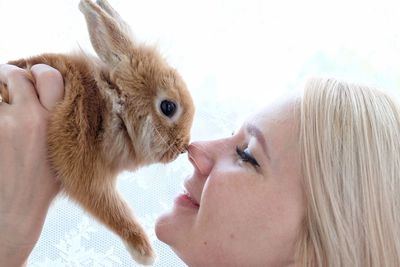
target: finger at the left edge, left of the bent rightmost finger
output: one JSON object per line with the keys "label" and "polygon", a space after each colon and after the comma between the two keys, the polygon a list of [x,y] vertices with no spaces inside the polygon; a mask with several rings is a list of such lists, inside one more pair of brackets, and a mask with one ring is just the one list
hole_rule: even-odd
{"label": "finger at the left edge, left of the bent rightmost finger", "polygon": [[26,70],[9,64],[0,64],[0,82],[7,84],[9,104],[38,101],[33,78]]}

